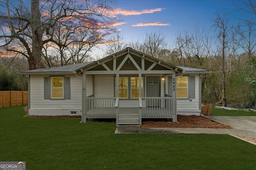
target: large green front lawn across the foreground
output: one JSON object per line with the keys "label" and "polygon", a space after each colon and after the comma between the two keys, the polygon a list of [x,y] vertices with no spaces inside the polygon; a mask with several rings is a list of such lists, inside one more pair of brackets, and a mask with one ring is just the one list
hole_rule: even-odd
{"label": "large green front lawn across the foreground", "polygon": [[229,135],[114,134],[115,123],[28,118],[0,109],[0,161],[27,170],[240,170],[256,167],[256,146]]}

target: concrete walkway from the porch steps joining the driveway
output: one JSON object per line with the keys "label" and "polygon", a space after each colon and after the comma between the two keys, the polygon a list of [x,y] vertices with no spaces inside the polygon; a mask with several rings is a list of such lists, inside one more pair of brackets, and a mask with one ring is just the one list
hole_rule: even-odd
{"label": "concrete walkway from the porch steps joining the driveway", "polygon": [[256,116],[203,116],[230,125],[233,129],[212,128],[140,128],[139,125],[118,125],[115,133],[188,133],[232,134],[256,138]]}

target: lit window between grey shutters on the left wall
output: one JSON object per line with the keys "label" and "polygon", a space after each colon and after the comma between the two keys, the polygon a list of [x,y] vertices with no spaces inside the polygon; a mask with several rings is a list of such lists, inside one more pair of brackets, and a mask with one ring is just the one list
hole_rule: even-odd
{"label": "lit window between grey shutters on the left wall", "polygon": [[51,77],[51,98],[63,98],[63,77]]}

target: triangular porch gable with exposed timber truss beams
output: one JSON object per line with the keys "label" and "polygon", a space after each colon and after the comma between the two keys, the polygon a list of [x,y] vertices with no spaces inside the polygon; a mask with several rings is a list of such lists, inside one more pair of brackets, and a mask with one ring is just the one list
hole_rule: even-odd
{"label": "triangular porch gable with exposed timber truss beams", "polygon": [[182,72],[182,69],[176,66],[129,48],[80,69],[81,72],[84,70],[86,70],[86,74],[172,74],[173,72]]}

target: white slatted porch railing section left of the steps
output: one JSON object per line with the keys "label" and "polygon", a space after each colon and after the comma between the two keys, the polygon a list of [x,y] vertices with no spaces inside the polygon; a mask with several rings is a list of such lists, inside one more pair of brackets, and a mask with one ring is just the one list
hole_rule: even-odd
{"label": "white slatted porch railing section left of the steps", "polygon": [[114,97],[86,98],[86,118],[114,118],[116,117]]}

